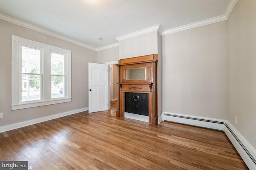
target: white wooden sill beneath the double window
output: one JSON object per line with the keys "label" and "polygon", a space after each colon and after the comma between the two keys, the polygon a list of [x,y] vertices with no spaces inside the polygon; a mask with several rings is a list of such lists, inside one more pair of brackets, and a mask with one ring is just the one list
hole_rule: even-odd
{"label": "white wooden sill beneath the double window", "polygon": [[22,104],[14,104],[12,105],[12,110],[18,109],[26,109],[30,107],[38,107],[38,106],[46,106],[51,104],[59,104],[65,102],[71,102],[72,98],[64,98],[64,99],[57,99],[57,100],[48,100],[48,101],[40,101],[40,102],[33,102],[33,103],[22,103]]}

